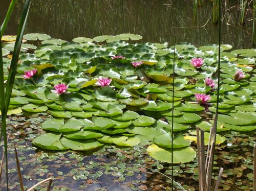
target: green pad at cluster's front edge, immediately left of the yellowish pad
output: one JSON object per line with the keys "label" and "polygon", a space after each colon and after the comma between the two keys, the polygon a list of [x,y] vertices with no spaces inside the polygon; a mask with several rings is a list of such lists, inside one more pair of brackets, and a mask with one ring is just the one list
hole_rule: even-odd
{"label": "green pad at cluster's front edge, immediately left of the yellowish pad", "polygon": [[88,151],[103,146],[103,144],[95,139],[71,140],[62,137],[60,142],[64,147],[68,147],[74,151]]}

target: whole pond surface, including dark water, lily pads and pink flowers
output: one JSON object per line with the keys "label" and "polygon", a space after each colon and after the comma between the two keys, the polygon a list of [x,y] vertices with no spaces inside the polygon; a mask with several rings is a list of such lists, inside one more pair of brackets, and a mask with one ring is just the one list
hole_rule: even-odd
{"label": "whole pond surface, including dark water, lily pads and pink flowers", "polygon": [[[17,5],[6,34],[16,33],[23,1]],[[223,16],[214,178],[224,168],[220,190],[249,190],[256,52],[248,50],[251,11],[241,28],[234,5]],[[218,42],[218,27],[210,1],[193,17],[191,1],[183,0],[34,0],[26,33],[37,34],[24,36],[10,101],[11,190],[19,190],[14,144],[27,187],[53,177],[53,190],[171,190],[172,120],[175,190],[198,190],[195,129],[208,135],[217,105],[218,46],[211,43]],[[3,39],[5,79],[12,38]],[[201,93],[209,100],[195,97]]]}

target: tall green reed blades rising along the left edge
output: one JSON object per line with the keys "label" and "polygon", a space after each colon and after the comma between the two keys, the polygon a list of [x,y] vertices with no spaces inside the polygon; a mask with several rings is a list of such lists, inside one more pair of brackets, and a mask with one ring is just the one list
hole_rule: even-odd
{"label": "tall green reed blades rising along the left edge", "polygon": [[[7,11],[6,18],[1,26],[1,32],[0,32],[0,39],[2,39],[2,35],[5,33],[5,29],[7,27],[8,21],[10,19],[10,16],[12,14],[14,5],[16,3],[16,0],[12,1],[10,4],[10,7]],[[4,148],[5,148],[5,163],[6,163],[6,183],[7,183],[7,190],[9,190],[8,187],[8,158],[7,158],[7,133],[6,133],[6,117],[7,117],[7,111],[10,103],[12,88],[14,84],[16,69],[17,69],[17,63],[19,58],[19,52],[20,47],[22,46],[22,38],[24,35],[25,25],[28,18],[29,8],[30,8],[31,0],[26,0],[24,9],[22,12],[22,16],[20,17],[18,31],[17,31],[17,37],[14,45],[14,51],[12,55],[11,60],[11,66],[10,71],[8,75],[7,85],[5,88],[5,82],[4,82],[4,63],[3,63],[3,54],[2,54],[2,42],[0,40],[0,103],[1,103],[1,133],[0,133],[0,141],[2,138],[2,135],[4,136]]]}

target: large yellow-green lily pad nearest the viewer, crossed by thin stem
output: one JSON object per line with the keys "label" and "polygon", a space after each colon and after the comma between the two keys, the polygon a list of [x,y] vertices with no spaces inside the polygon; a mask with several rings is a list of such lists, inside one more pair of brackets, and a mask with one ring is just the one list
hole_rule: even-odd
{"label": "large yellow-green lily pad nearest the viewer, crossed by thin stem", "polygon": [[[147,147],[148,154],[162,162],[172,163],[172,150],[163,149],[153,144]],[[181,148],[181,149],[173,149],[173,163],[186,163],[193,161],[196,158],[196,151],[191,147]]]}

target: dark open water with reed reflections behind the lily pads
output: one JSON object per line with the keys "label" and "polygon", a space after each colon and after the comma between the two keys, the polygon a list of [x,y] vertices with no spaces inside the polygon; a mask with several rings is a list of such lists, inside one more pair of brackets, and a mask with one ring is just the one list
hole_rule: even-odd
{"label": "dark open water with reed reflections behind the lily pads", "polygon": [[[0,22],[9,6],[0,2]],[[239,1],[222,5],[221,43],[234,49],[252,48],[252,3],[247,7],[245,25],[238,24]],[[24,5],[17,0],[6,34],[15,34]],[[227,10],[227,11],[225,11]],[[26,33],[46,33],[71,41],[75,37],[134,33],[143,42],[187,41],[196,46],[218,43],[218,25],[212,23],[212,1],[204,1],[193,16],[191,0],[33,0]]]}

